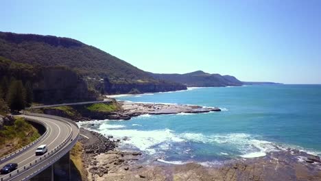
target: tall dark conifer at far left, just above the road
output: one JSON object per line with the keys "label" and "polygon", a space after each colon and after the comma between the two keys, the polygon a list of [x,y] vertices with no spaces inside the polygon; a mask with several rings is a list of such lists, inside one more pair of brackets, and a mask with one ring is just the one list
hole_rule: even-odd
{"label": "tall dark conifer at far left, just above the road", "polygon": [[21,80],[13,80],[10,82],[7,102],[10,110],[14,112],[25,108],[25,88]]}

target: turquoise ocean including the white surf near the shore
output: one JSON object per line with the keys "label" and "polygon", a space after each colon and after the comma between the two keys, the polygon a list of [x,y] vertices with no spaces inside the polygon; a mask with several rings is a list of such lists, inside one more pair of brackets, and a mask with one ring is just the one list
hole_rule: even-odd
{"label": "turquoise ocean including the white surf near the shore", "polygon": [[211,166],[287,148],[321,156],[321,85],[189,88],[117,99],[222,109],[79,123],[105,136],[127,136],[123,149],[141,150],[162,162]]}

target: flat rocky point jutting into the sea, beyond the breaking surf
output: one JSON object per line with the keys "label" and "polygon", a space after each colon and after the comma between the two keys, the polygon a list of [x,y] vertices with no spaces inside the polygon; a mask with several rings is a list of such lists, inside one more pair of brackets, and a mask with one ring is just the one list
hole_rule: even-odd
{"label": "flat rocky point jutting into the sea, beyond the breaking surf", "polygon": [[[75,121],[89,121],[93,119],[115,119],[115,120],[130,120],[132,117],[137,117],[142,114],[179,114],[179,113],[205,113],[218,112],[219,108],[210,108],[194,105],[180,104],[151,104],[151,103],[134,103],[128,101],[116,101],[112,99],[112,103],[118,107],[115,111],[99,112],[88,111],[83,106],[71,106],[72,114],[66,110],[57,108],[45,108],[42,111],[44,114],[51,114],[60,117],[67,117]],[[37,112],[36,110],[32,110]],[[69,111],[70,112],[70,111]]]}

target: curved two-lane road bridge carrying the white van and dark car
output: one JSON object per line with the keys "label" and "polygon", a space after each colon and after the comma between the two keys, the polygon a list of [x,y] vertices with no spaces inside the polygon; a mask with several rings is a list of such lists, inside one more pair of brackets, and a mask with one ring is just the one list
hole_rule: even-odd
{"label": "curved two-lane road bridge carrying the white van and dark car", "polygon": [[[40,123],[46,128],[46,132],[34,143],[0,158],[1,168],[10,162],[18,164],[18,169],[15,171],[0,175],[0,181],[31,179],[65,154],[69,154],[80,135],[78,125],[70,119],[34,113],[23,114],[20,117]],[[36,156],[36,147],[43,144],[48,146],[48,152],[42,156]]]}

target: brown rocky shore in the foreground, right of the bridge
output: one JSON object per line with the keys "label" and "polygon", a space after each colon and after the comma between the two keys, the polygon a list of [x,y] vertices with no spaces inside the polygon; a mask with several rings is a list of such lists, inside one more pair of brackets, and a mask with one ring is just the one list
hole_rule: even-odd
{"label": "brown rocky shore in the foreground, right of the bridge", "polygon": [[120,139],[81,130],[88,180],[321,180],[321,160],[296,149],[259,158],[232,160],[217,167],[196,162],[171,165],[146,161],[141,152],[118,149]]}

